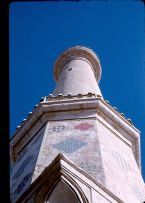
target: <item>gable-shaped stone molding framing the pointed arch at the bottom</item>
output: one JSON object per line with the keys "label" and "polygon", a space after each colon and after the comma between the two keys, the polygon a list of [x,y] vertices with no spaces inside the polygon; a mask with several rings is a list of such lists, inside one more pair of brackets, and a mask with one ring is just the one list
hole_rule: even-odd
{"label": "gable-shaped stone molding framing the pointed arch at the bottom", "polygon": [[[40,176],[31,184],[31,186],[22,194],[16,203],[23,203],[34,196],[34,202],[43,203],[51,194],[55,185],[60,181],[64,181],[78,196],[81,203],[92,202],[88,199],[88,194],[83,192],[83,184],[91,192],[93,189],[97,194],[104,197],[112,203],[123,203],[111,191],[102,186],[93,179],[89,174],[78,168],[73,162],[66,158],[63,154],[58,154],[51,164],[44,169]],[[92,197],[91,197],[92,199]]]}

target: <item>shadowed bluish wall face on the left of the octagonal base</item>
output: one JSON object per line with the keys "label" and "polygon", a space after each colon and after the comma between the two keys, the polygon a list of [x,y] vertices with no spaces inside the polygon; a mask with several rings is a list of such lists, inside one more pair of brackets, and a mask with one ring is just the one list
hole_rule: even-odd
{"label": "shadowed bluish wall face on the left of the octagonal base", "polygon": [[11,200],[16,199],[31,185],[33,172],[43,139],[43,127],[19,153],[10,180]]}

